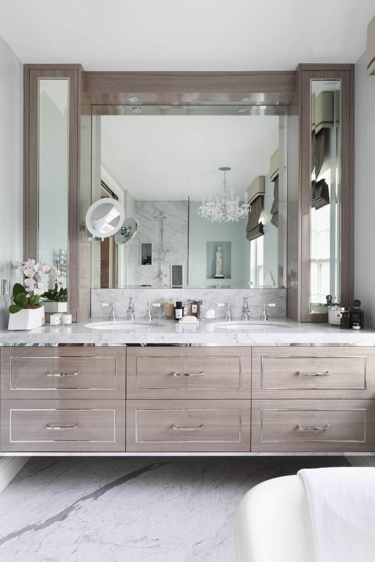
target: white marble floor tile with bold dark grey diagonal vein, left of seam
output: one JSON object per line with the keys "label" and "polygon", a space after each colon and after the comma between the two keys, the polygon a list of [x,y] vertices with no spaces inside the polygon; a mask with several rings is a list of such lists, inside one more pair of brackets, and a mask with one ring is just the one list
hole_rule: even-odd
{"label": "white marble floor tile with bold dark grey diagonal vein, left of seam", "polygon": [[0,496],[1,562],[184,560],[185,459],[31,463]]}

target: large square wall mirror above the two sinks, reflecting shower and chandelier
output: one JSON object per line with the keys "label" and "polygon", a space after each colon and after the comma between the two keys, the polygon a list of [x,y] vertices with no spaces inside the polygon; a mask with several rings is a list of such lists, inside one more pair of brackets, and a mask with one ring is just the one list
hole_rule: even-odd
{"label": "large square wall mirror above the two sinks, reflecting shower and chandelier", "polygon": [[[92,287],[284,287],[286,123],[284,106],[93,106],[92,201],[118,200],[138,230],[93,240]],[[251,205],[238,220],[202,216],[224,173]]]}

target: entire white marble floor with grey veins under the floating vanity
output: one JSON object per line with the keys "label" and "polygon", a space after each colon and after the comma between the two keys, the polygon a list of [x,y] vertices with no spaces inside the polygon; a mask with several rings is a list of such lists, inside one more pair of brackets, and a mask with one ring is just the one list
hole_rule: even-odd
{"label": "entire white marble floor with grey veins under the floating vanity", "polygon": [[0,495],[0,562],[233,562],[241,497],[344,457],[34,457]]}

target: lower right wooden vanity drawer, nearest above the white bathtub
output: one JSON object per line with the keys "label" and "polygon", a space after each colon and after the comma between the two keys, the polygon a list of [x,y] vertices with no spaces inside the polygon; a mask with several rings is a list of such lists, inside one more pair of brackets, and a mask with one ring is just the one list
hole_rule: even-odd
{"label": "lower right wooden vanity drawer, nearest above the white bathtub", "polygon": [[375,450],[372,400],[252,400],[251,407],[253,452]]}

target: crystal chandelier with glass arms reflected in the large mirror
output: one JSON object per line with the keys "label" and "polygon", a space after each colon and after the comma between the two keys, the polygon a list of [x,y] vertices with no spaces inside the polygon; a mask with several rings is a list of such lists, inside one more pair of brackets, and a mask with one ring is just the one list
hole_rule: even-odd
{"label": "crystal chandelier with glass arms reflected in the large mirror", "polygon": [[227,179],[225,178],[225,172],[230,170],[231,168],[223,167],[219,168],[219,170],[224,172],[224,180],[222,183],[222,191],[220,193],[220,197],[216,197],[215,201],[211,201],[211,195],[209,196],[209,201],[205,203],[205,196],[202,195],[202,205],[198,209],[198,215],[206,217],[209,219],[211,223],[214,221],[219,221],[220,223],[224,221],[224,223],[228,223],[230,220],[238,221],[238,219],[243,219],[246,215],[249,214],[251,210],[251,206],[247,203],[247,191],[245,191],[245,203],[243,205],[238,206],[240,203],[240,197],[237,196],[237,199],[234,200],[234,189],[231,189],[231,197],[229,198],[229,188]]}

